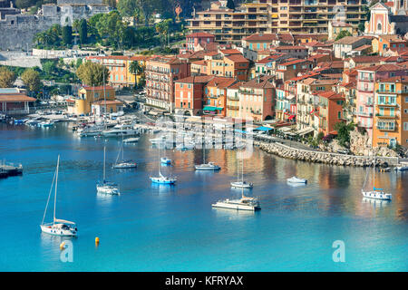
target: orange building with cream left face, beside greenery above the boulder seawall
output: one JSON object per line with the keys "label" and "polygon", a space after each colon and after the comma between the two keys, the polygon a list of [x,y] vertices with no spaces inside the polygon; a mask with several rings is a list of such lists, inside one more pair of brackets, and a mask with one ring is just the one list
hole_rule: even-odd
{"label": "orange building with cream left face, beside greenery above the boulder seawall", "polygon": [[343,103],[345,96],[333,91],[317,93],[319,98],[319,132],[337,135],[335,124],[345,121]]}

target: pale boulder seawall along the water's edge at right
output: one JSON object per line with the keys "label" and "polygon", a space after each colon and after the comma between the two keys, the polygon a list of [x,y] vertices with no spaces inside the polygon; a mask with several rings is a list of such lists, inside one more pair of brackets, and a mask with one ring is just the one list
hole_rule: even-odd
{"label": "pale boulder seawall along the water's edge at right", "polygon": [[[255,141],[254,145],[257,145],[260,150],[264,150],[267,153],[290,160],[355,167],[366,167],[373,164],[373,160],[367,156],[354,156],[313,150],[298,150],[276,142],[264,143]],[[398,164],[398,159],[378,157],[376,158],[375,163],[376,166],[394,166]]]}

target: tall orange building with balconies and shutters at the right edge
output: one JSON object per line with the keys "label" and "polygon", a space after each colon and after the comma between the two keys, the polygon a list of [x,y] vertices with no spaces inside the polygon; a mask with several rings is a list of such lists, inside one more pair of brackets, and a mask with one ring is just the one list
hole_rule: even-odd
{"label": "tall orange building with balconies and shutters at the right edge", "polygon": [[408,147],[408,77],[375,82],[373,147]]}

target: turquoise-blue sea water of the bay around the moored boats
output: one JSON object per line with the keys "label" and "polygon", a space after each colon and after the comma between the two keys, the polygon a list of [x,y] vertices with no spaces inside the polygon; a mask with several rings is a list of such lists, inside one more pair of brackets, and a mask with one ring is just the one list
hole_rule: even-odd
{"label": "turquoise-blue sea water of the bay around the moored boats", "polygon": [[[283,160],[255,150],[246,160],[248,196],[256,213],[211,208],[239,197],[233,150],[208,150],[219,172],[196,172],[201,150],[166,150],[178,177],[174,187],[153,186],[158,151],[143,136],[125,145],[137,169],[111,169],[121,145],[109,139],[107,177],[121,196],[101,197],[103,140],[76,138],[67,124],[53,129],[0,124],[0,159],[21,162],[24,175],[0,179],[0,271],[406,271],[407,173],[377,173],[376,186],[393,201],[362,198],[365,169]],[[56,216],[77,222],[73,262],[60,260],[61,237],[40,231],[57,155],[61,154]],[[308,179],[290,187],[286,179]],[[369,179],[369,183],[371,179]],[[51,201],[53,202],[53,200]],[[48,210],[47,221],[52,218]],[[95,237],[100,245],[95,247]],[[345,263],[335,263],[335,240],[345,242]]]}

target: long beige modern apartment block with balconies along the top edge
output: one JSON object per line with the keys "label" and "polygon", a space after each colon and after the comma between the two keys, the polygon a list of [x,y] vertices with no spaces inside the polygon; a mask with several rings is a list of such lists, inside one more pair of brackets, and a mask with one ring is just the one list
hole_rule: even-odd
{"label": "long beige modern apartment block with balconies along the top edge", "polygon": [[233,11],[227,1],[213,2],[208,10],[188,19],[191,33],[214,34],[216,42],[239,43],[250,34],[328,34],[331,20],[350,24],[357,32],[364,22],[365,0],[257,0]]}

